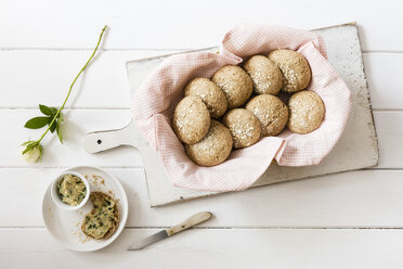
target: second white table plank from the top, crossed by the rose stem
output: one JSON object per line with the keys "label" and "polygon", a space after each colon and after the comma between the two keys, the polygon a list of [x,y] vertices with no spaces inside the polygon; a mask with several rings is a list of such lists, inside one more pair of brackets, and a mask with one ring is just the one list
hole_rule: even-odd
{"label": "second white table plank from the top, crossed by the rose stem", "polygon": [[[77,82],[67,107],[128,108],[130,90],[127,61],[172,51],[104,51]],[[32,107],[39,103],[61,105],[88,51],[0,51],[0,107]],[[364,53],[370,101],[375,110],[402,110],[401,53]],[[22,68],[24,66],[24,68]],[[16,72],[17,71],[17,72]],[[385,92],[389,92],[385,94]],[[22,98],[24,94],[24,98]]]}

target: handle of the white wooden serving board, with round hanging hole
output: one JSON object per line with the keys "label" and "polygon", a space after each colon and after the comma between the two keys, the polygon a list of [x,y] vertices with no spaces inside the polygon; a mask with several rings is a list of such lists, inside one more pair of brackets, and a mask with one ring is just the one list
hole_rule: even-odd
{"label": "handle of the white wooden serving board, with round hanging hole", "polygon": [[138,148],[135,137],[133,137],[132,124],[131,121],[120,129],[89,132],[83,139],[82,145],[89,153],[98,153],[120,145]]}

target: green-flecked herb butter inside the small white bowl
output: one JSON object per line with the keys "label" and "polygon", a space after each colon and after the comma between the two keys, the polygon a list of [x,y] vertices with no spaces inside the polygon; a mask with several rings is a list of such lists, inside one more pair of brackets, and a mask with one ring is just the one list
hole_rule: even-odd
{"label": "green-flecked herb butter inside the small white bowl", "polygon": [[61,181],[57,182],[58,194],[62,202],[77,206],[87,195],[87,188],[82,180],[74,175],[66,175]]}

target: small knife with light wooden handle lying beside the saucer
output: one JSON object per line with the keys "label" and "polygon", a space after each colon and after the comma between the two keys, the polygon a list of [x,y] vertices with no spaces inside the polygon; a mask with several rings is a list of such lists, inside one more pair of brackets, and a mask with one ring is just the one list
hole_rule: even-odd
{"label": "small knife with light wooden handle lying beside the saucer", "polygon": [[140,240],[138,242],[134,242],[131,246],[129,246],[128,251],[139,251],[144,248],[147,245],[151,245],[155,242],[161,241],[164,239],[167,239],[176,233],[179,233],[181,231],[184,231],[193,226],[199,225],[208,219],[211,218],[211,213],[209,212],[200,212],[192,217],[185,219],[183,222],[173,226],[167,230],[159,231],[155,234],[152,234],[143,240]]}

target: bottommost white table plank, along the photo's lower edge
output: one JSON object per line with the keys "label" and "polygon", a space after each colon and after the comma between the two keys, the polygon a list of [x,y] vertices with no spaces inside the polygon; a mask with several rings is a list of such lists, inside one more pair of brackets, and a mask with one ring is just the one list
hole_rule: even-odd
{"label": "bottommost white table plank, along the photo's lower edge", "polygon": [[[126,230],[93,253],[64,249],[43,230],[0,230],[1,268],[401,268],[402,230],[193,229],[139,252]],[[22,244],[22,242],[24,242]]]}

